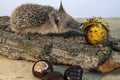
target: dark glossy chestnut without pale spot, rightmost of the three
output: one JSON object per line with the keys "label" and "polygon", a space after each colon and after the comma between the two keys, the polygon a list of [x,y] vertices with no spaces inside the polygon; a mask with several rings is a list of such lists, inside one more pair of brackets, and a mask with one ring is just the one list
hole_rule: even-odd
{"label": "dark glossy chestnut without pale spot, rightmost of the three", "polygon": [[65,80],[82,80],[83,69],[79,65],[73,65],[64,72]]}

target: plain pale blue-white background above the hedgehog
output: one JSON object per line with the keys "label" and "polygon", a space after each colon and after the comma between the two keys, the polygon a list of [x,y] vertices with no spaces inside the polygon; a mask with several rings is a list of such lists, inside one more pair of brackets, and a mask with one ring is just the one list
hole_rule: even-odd
{"label": "plain pale blue-white background above the hedgehog", "polygon": [[0,16],[10,16],[23,3],[37,3],[59,8],[60,1],[67,13],[74,18],[120,17],[120,0],[1,0]]}

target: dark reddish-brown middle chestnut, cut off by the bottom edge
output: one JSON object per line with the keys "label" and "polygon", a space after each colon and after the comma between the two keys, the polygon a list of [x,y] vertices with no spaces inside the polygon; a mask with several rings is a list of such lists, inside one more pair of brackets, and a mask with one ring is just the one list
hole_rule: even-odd
{"label": "dark reddish-brown middle chestnut, cut off by the bottom edge", "polygon": [[60,72],[52,71],[45,75],[42,80],[64,80],[64,77]]}

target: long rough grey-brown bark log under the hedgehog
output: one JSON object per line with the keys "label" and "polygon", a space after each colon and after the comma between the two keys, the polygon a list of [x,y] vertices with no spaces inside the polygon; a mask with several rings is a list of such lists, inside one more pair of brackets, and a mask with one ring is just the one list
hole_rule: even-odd
{"label": "long rough grey-brown bark log under the hedgehog", "polygon": [[46,59],[55,64],[80,65],[84,70],[95,70],[112,52],[109,45],[88,45],[83,34],[20,35],[9,29],[9,20],[4,25],[7,27],[0,25],[0,54],[10,59]]}

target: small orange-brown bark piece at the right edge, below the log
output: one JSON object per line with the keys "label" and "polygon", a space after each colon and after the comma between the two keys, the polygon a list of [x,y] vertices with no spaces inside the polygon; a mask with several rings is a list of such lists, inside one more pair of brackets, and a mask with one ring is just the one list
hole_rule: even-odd
{"label": "small orange-brown bark piece at the right edge, below the log", "polygon": [[98,70],[102,73],[120,70],[120,52],[113,51],[109,59],[99,66]]}

